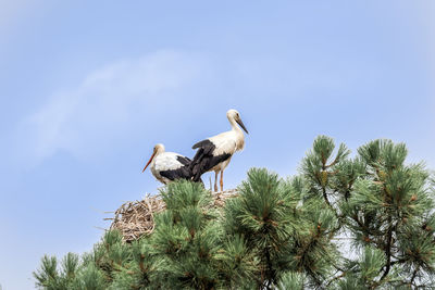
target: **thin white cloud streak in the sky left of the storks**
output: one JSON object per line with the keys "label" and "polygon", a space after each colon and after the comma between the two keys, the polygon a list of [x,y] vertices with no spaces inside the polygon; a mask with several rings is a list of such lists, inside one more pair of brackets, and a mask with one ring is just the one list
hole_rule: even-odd
{"label": "thin white cloud streak in the sky left of the storks", "polygon": [[197,55],[164,50],[96,70],[23,121],[20,154],[34,164],[59,150],[97,154],[135,121],[135,113],[152,119],[175,102],[183,89],[198,81],[202,68]]}

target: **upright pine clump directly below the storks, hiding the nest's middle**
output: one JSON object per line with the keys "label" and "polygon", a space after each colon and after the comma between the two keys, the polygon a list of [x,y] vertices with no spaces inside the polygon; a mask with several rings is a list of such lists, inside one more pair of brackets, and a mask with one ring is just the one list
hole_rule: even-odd
{"label": "upright pine clump directly below the storks, hiding the nest's middle", "polygon": [[[157,217],[151,253],[163,288],[211,289],[219,285],[216,253],[222,230],[210,192],[201,185],[172,182],[162,191],[166,211]],[[164,278],[163,278],[164,277]]]}

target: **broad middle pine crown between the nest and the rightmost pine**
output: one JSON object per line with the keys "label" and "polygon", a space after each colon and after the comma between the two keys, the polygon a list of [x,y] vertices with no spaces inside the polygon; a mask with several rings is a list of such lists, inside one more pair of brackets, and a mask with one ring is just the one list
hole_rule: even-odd
{"label": "broad middle pine crown between the nest and the rightmost pine", "polygon": [[300,178],[251,169],[239,198],[225,206],[226,231],[244,237],[259,261],[257,288],[272,289],[289,273],[306,273],[309,285],[321,286],[331,274],[338,252],[325,234],[335,217],[319,199],[303,200],[301,186]]}

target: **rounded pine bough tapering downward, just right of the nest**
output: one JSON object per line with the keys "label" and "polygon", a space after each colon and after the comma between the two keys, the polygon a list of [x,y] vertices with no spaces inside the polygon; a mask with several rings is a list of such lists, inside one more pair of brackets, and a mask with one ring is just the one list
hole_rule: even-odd
{"label": "rounded pine bough tapering downward, just right of the nest", "polygon": [[289,264],[285,253],[296,227],[291,215],[295,206],[290,187],[266,169],[249,171],[248,180],[239,187],[239,198],[226,203],[225,230],[229,236],[244,237],[256,253],[259,286],[270,287],[277,272]]}

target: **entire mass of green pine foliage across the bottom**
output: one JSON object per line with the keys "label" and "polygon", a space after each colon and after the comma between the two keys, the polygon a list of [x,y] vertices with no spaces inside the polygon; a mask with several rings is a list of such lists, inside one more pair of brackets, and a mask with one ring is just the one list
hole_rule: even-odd
{"label": "entire mass of green pine foliage across the bottom", "polygon": [[222,209],[188,181],[161,191],[152,235],[108,231],[92,251],[44,256],[40,289],[431,289],[434,175],[374,140],[336,149],[320,136],[282,179],[252,168]]}

